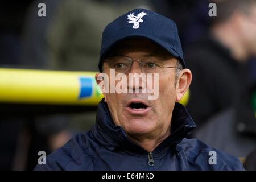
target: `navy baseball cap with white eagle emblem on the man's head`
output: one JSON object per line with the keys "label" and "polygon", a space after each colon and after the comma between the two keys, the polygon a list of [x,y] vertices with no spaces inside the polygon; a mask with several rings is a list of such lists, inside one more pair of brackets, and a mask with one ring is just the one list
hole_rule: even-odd
{"label": "navy baseball cap with white eagle emblem on the man's head", "polygon": [[150,10],[135,9],[119,16],[105,27],[98,63],[100,72],[102,72],[102,62],[106,53],[121,40],[135,37],[146,38],[158,44],[172,56],[177,57],[185,68],[183,51],[174,21]]}

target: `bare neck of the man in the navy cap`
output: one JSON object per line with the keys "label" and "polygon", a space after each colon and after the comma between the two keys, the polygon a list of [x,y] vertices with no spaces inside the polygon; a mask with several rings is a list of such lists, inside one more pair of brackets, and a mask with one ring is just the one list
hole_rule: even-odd
{"label": "bare neck of the man in the navy cap", "polygon": [[152,152],[155,150],[157,146],[159,146],[160,143],[163,142],[164,139],[166,139],[171,134],[171,123],[170,126],[167,128],[166,131],[162,134],[158,135],[128,135],[128,138],[134,142],[135,144],[138,144],[138,146],[141,146],[144,150],[147,152]]}

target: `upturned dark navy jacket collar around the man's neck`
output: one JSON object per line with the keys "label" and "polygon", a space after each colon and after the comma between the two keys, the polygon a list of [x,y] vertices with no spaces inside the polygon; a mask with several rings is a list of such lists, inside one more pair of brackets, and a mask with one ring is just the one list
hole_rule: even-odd
{"label": "upturned dark navy jacket collar around the man's neck", "polygon": [[[172,113],[171,135],[167,137],[154,152],[163,150],[166,146],[176,146],[196,127],[191,116],[185,107],[176,102]],[[131,142],[120,126],[115,126],[110,117],[108,105],[104,98],[100,101],[97,108],[96,124],[92,127],[91,133],[98,143],[109,150],[125,149],[137,153],[144,153],[143,148]]]}

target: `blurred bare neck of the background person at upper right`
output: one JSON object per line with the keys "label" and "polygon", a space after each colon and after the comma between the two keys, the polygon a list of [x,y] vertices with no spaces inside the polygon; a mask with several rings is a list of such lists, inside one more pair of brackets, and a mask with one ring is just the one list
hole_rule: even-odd
{"label": "blurred bare neck of the background person at upper right", "polygon": [[211,33],[214,38],[231,51],[232,57],[238,62],[247,60],[248,54],[245,46],[242,44],[240,36],[236,34],[230,24],[216,25],[212,28]]}

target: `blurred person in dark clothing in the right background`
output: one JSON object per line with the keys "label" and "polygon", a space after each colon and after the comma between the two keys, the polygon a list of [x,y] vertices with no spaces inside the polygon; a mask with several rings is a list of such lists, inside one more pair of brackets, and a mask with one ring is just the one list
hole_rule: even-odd
{"label": "blurred person in dark clothing in the right background", "polygon": [[256,56],[256,1],[225,0],[216,5],[209,34],[185,50],[193,72],[187,109],[198,127],[236,104],[247,88],[247,61]]}

